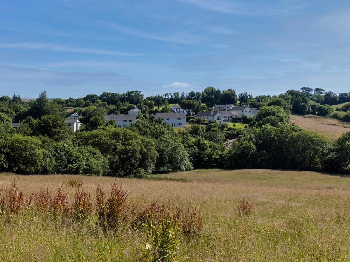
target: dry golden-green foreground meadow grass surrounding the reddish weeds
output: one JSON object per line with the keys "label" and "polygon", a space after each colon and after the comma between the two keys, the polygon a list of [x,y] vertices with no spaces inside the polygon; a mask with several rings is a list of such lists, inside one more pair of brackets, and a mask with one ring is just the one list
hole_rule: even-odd
{"label": "dry golden-green foreground meadow grass surrounding the reddish weeds", "polygon": [[[69,175],[0,174],[0,187],[17,181],[25,193],[55,191]],[[74,176],[96,195],[112,177]],[[350,178],[280,170],[194,170],[148,180],[116,179],[140,206],[152,201],[201,208],[198,238],[180,238],[178,261],[349,261]],[[65,186],[72,201],[75,189]],[[245,199],[249,215],[239,214]],[[1,218],[0,218],[1,221]],[[1,261],[135,261],[145,247],[141,232],[96,230],[95,221],[75,224],[44,216],[0,226]]]}

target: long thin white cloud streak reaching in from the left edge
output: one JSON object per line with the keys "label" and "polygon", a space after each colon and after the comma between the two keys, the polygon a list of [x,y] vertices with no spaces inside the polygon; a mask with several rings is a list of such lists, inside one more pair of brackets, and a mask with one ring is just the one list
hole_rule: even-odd
{"label": "long thin white cloud streak reaching in from the left edge", "polygon": [[21,49],[47,49],[58,52],[73,52],[73,53],[87,53],[87,54],[104,54],[109,56],[143,56],[140,53],[119,52],[101,49],[89,48],[74,48],[56,44],[48,43],[0,43],[0,48],[21,48]]}

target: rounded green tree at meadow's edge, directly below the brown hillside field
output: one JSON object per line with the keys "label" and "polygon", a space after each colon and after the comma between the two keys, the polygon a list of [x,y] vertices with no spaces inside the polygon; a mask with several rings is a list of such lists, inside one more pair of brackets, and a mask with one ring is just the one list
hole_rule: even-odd
{"label": "rounded green tree at meadow's edge, directly below the brown hillside field", "polygon": [[294,132],[287,139],[285,156],[292,168],[314,170],[320,167],[327,145],[328,140],[314,132]]}

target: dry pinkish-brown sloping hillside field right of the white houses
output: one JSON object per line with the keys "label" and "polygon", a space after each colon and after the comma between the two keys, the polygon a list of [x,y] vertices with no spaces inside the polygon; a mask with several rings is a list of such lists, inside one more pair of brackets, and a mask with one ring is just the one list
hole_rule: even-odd
{"label": "dry pinkish-brown sloping hillside field right of the white houses", "polygon": [[300,128],[321,134],[330,140],[335,140],[343,133],[350,132],[350,123],[335,118],[316,115],[290,115],[290,122]]}

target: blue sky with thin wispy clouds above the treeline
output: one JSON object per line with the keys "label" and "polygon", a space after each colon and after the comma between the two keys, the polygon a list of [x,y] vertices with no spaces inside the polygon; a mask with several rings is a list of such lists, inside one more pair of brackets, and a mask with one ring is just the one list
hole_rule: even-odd
{"label": "blue sky with thin wispy clouds above the treeline", "polygon": [[0,96],[349,92],[350,2],[0,1]]}

